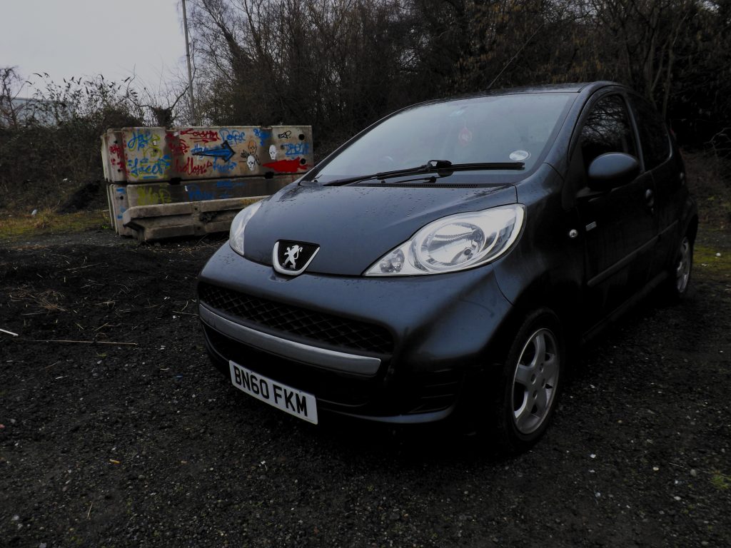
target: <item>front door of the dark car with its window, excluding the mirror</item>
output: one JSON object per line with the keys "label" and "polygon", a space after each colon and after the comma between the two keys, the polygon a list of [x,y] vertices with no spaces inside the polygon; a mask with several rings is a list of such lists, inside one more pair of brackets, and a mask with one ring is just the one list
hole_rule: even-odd
{"label": "front door of the dark car with its window, excluding the mirror", "polygon": [[579,167],[574,171],[580,179],[575,181],[579,189],[576,204],[585,245],[582,304],[591,325],[645,285],[657,238],[650,173],[640,167],[639,175],[629,183],[606,191],[589,188],[589,165],[608,152],[639,156],[632,118],[620,92],[603,94],[588,103],[572,157],[572,164]]}

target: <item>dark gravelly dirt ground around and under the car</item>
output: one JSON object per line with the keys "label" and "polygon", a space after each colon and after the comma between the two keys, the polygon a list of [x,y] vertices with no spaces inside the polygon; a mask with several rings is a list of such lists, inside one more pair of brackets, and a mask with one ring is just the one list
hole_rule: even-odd
{"label": "dark gravelly dirt ground around and under the car", "polygon": [[585,349],[512,459],[232,388],[194,305],[223,240],[4,243],[0,546],[731,546],[731,279],[709,263],[731,249],[707,240],[689,298]]}

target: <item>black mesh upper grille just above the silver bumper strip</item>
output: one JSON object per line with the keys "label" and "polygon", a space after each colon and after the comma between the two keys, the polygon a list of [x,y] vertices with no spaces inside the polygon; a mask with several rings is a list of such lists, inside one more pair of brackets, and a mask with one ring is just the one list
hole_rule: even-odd
{"label": "black mesh upper grille just above the silver bumper strip", "polygon": [[200,302],[229,316],[327,345],[376,354],[393,352],[393,337],[379,325],[341,318],[200,283]]}

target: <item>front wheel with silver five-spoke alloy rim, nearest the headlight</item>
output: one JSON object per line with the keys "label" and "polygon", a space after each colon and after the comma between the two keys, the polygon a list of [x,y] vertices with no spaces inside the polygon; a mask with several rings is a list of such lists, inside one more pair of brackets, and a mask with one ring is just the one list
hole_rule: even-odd
{"label": "front wheel with silver five-spoke alloy rim, nearest the headlight", "polygon": [[527,316],[496,371],[493,435],[501,452],[523,452],[545,433],[558,405],[565,361],[556,314],[542,309]]}

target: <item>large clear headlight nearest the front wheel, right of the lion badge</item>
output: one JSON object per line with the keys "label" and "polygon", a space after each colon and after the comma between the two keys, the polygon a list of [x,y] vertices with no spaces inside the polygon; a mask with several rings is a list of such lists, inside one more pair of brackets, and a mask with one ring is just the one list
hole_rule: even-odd
{"label": "large clear headlight nearest the front wheel, right of the lion badge", "polygon": [[440,274],[484,265],[510,248],[524,218],[520,204],[441,218],[382,256],[366,276]]}

